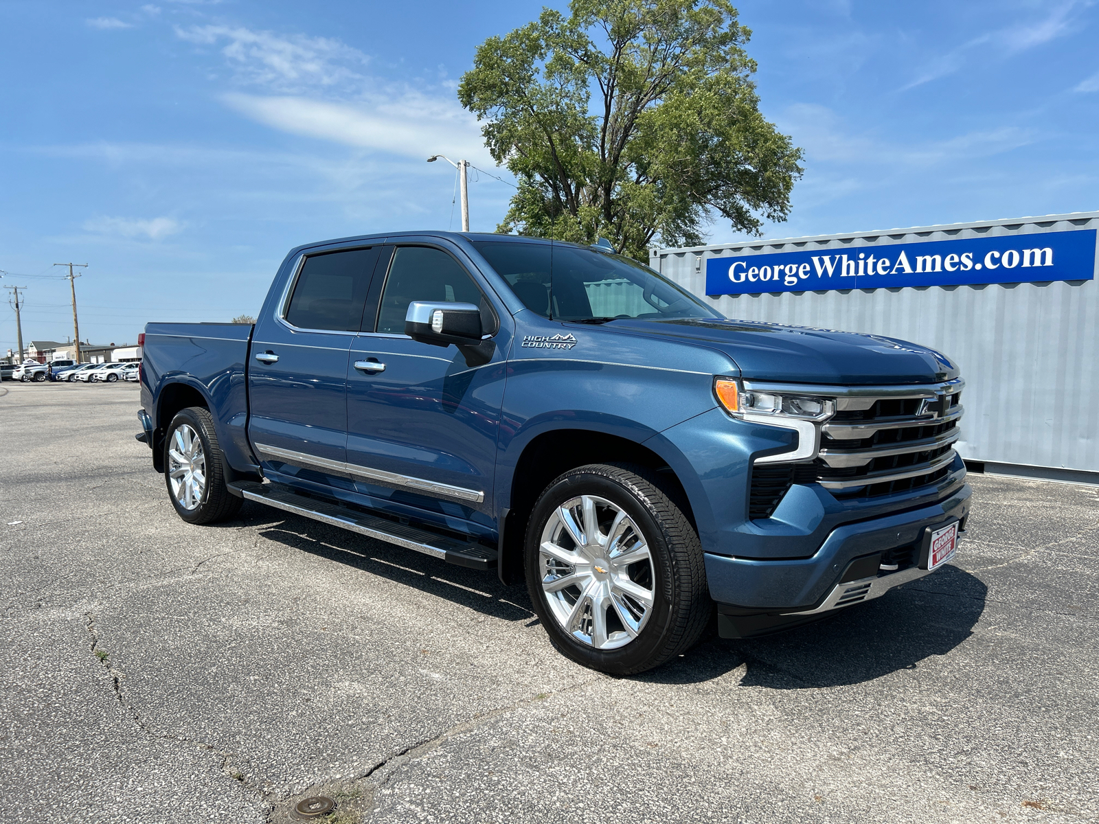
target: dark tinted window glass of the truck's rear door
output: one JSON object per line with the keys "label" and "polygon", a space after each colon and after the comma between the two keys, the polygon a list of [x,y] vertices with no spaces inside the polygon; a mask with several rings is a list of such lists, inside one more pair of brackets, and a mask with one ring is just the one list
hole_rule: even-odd
{"label": "dark tinted window glass of the truck's rear door", "polygon": [[286,320],[299,329],[358,332],[377,249],[347,249],[306,258]]}

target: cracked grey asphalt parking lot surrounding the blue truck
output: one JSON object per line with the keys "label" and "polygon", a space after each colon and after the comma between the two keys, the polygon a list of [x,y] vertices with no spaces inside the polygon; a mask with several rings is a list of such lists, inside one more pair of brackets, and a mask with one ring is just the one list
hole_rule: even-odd
{"label": "cracked grey asphalt parking lot surrounding the blue truck", "polygon": [[1099,820],[1095,488],[975,476],[955,565],[613,679],[495,577],[185,524],[135,385],[0,396],[0,822]]}

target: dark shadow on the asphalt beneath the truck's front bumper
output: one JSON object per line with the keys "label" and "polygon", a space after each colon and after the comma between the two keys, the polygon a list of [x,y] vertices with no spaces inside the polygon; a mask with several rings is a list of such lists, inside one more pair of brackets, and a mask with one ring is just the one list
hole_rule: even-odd
{"label": "dark shadow on the asphalt beneath the truck's front bumper", "polygon": [[898,587],[867,604],[785,633],[731,641],[707,637],[678,661],[637,680],[699,683],[745,667],[741,687],[843,687],[946,655],[973,635],[988,588],[957,567]]}

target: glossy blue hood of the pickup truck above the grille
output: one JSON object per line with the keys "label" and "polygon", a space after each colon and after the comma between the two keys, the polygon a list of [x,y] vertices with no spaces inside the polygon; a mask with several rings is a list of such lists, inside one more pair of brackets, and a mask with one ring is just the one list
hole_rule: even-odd
{"label": "glossy blue hood of the pickup truck above the grille", "polygon": [[729,355],[748,380],[859,386],[932,383],[958,375],[942,353],[881,335],[717,318],[623,319],[606,329],[697,341]]}

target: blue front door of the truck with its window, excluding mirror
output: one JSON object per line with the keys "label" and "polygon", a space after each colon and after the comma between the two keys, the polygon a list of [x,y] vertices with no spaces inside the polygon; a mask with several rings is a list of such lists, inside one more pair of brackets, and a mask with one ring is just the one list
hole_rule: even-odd
{"label": "blue front door of the truck with its window, excluding mirror", "polygon": [[496,332],[496,312],[451,252],[410,245],[382,257],[373,290],[380,287],[380,297],[371,301],[377,315],[364,320],[351,346],[348,470],[375,505],[442,524],[491,525],[504,344],[493,342],[484,363],[453,345],[413,341],[404,316],[417,300],[473,303]]}

